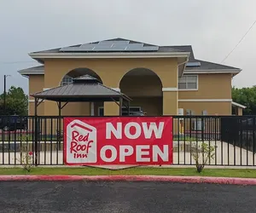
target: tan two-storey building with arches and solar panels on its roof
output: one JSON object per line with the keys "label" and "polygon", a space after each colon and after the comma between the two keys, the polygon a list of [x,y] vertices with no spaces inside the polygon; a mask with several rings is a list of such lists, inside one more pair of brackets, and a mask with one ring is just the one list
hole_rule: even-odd
{"label": "tan two-storey building with arches and solar panels on its roof", "polygon": [[[29,78],[29,94],[72,83],[88,74],[131,97],[131,110],[147,115],[231,115],[231,80],[241,69],[195,59],[191,46],[157,46],[123,38],[84,43],[29,54],[42,66],[20,70]],[[30,97],[29,114],[34,114]],[[39,115],[57,115],[44,101]],[[114,102],[68,103],[63,115],[118,115]]]}

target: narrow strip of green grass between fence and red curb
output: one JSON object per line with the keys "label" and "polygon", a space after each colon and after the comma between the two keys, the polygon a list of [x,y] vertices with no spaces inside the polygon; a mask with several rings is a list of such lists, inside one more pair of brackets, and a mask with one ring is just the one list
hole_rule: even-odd
{"label": "narrow strip of green grass between fence and red curb", "polygon": [[27,173],[22,168],[0,168],[0,175],[73,175],[73,176],[104,176],[104,175],[153,175],[153,176],[221,176],[256,178],[256,170],[247,169],[205,169],[201,174],[195,168],[152,168],[136,167],[124,170],[106,170],[101,168],[32,168]]}

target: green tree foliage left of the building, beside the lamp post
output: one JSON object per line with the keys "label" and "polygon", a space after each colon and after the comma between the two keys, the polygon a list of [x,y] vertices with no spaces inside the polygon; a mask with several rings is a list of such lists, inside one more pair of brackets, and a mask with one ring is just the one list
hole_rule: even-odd
{"label": "green tree foliage left of the building, beside the lamp post", "polygon": [[[0,95],[0,115],[3,115],[3,97]],[[28,97],[20,87],[12,86],[6,93],[6,115],[27,115]]]}

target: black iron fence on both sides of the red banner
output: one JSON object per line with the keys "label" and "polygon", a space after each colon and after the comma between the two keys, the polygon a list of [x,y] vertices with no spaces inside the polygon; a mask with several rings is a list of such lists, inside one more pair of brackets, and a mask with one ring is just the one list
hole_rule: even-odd
{"label": "black iron fence on both sides of the red banner", "polygon": [[[173,116],[173,164],[193,165],[202,143],[214,147],[209,165],[255,165],[254,116]],[[63,164],[63,117],[0,117],[0,164]]]}

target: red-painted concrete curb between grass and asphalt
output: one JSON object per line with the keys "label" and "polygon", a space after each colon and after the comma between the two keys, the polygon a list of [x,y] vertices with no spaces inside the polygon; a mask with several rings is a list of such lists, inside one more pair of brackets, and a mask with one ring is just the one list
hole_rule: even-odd
{"label": "red-painted concrete curb between grass and asphalt", "polygon": [[0,176],[0,181],[169,181],[256,185],[256,178],[210,176]]}

